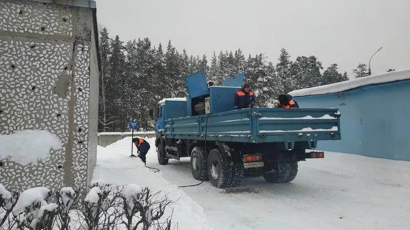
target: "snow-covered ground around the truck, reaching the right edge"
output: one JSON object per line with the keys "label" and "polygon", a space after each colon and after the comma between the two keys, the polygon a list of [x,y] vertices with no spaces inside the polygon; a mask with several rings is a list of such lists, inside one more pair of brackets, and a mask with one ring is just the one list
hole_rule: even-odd
{"label": "snow-covered ground around the truck, reaching the right edge", "polygon": [[[131,137],[98,147],[95,179],[166,190],[179,229],[410,229],[410,162],[325,153],[299,163],[290,183],[247,177],[235,189],[196,187],[189,158],[160,166],[154,139],[147,166],[128,157]],[[134,148],[135,151],[135,148]]]}

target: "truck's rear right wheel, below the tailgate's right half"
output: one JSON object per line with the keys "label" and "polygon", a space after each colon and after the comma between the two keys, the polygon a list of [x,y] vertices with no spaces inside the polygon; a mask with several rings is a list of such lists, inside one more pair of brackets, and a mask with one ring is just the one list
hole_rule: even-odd
{"label": "truck's rear right wheel, below the tailgate's right half", "polygon": [[263,178],[271,183],[290,182],[298,173],[297,162],[279,162],[279,171],[263,173]]}

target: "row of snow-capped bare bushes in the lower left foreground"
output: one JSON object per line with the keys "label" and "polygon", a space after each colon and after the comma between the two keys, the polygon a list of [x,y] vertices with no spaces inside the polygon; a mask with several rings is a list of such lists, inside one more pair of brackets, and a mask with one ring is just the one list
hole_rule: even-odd
{"label": "row of snow-capped bare bushes in the lower left foreground", "polygon": [[[0,185],[0,229],[172,229],[163,217],[171,203],[160,192],[137,185],[116,186],[94,181],[84,199],[71,187],[52,192],[45,187],[10,193]],[[10,200],[5,209],[4,200]],[[53,201],[56,201],[54,203]]]}

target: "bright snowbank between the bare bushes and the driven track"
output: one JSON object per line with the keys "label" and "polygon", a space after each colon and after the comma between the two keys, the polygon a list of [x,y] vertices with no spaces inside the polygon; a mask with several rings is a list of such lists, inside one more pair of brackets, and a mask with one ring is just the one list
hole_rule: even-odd
{"label": "bright snowbank between the bare bushes and the driven track", "polygon": [[[155,154],[156,156],[153,141],[154,139],[150,139],[149,155]],[[150,171],[145,168],[139,158],[129,157],[131,143],[131,137],[126,137],[106,148],[98,146],[97,166],[94,170],[93,181],[102,179],[117,185],[136,184],[140,187],[149,187],[154,192],[165,191],[168,197],[176,202],[170,208],[174,209],[172,220],[178,222],[178,229],[212,229],[208,227],[206,213],[197,202],[172,182],[163,178],[160,173],[153,173],[155,170]],[[134,151],[136,151],[135,146]],[[136,152],[134,154],[136,155]],[[168,210],[167,216],[169,215],[171,215],[171,210]]]}

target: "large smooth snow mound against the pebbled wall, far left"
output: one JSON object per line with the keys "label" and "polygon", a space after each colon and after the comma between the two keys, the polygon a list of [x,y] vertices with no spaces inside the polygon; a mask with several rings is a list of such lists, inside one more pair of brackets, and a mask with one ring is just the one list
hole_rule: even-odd
{"label": "large smooth snow mound against the pebbled wall, far left", "polygon": [[63,144],[47,130],[20,130],[0,135],[0,159],[9,159],[22,165],[38,164],[49,157],[50,149],[58,150]]}

